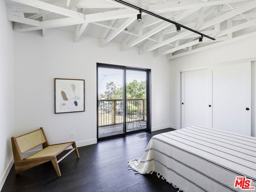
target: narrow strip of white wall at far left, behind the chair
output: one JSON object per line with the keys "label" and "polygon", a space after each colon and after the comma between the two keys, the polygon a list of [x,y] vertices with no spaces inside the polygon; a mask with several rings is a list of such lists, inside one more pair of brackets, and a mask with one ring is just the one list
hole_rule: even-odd
{"label": "narrow strip of white wall at far left, behind the chair", "polygon": [[14,50],[12,22],[6,19],[6,5],[0,1],[0,189],[12,166],[11,137],[14,134]]}

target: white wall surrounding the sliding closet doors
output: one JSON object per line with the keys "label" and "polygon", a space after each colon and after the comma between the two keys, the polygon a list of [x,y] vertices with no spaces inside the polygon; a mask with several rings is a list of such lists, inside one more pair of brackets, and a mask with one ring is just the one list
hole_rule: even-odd
{"label": "white wall surrounding the sliding closet doors", "polygon": [[[198,53],[190,54],[180,58],[169,60],[171,65],[171,127],[180,128],[180,70],[201,68],[206,66],[213,66],[215,64],[222,64],[224,62],[232,62],[244,60],[248,58],[255,58],[255,43],[256,37],[230,43],[218,48],[204,50]],[[256,136],[256,67],[255,62],[252,62],[252,136]]]}

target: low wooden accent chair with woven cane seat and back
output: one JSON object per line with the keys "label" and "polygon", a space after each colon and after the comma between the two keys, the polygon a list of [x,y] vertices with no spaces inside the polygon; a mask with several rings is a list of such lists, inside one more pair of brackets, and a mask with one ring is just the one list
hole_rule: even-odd
{"label": "low wooden accent chair with woven cane seat and back", "polygon": [[[77,158],[79,153],[76,147],[76,142],[67,142],[55,145],[49,145],[44,130],[41,127],[38,130],[24,134],[18,137],[12,137],[12,152],[14,157],[14,166],[16,173],[22,172],[34,166],[38,166],[48,161],[52,161],[52,164],[56,170],[57,175],[60,177],[60,168],[58,163],[75,150]],[[43,149],[33,154],[32,156],[23,159],[22,154],[42,144]],[[68,147],[73,148],[66,153],[62,158],[57,160],[56,156],[66,150]]]}

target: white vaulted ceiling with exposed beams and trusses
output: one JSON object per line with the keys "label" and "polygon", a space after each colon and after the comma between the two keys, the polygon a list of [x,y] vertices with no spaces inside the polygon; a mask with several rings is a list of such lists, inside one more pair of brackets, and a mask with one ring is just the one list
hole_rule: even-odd
{"label": "white vaulted ceiling with exposed beams and trusses", "polygon": [[[177,32],[175,24],[142,12],[116,0],[5,0],[7,19],[14,32],[48,28],[98,38],[99,46],[120,44],[125,51],[137,47],[139,54],[152,52],[168,60],[216,46],[256,36],[256,0],[124,0],[185,28]],[[228,50],[227,50],[228,52]]]}

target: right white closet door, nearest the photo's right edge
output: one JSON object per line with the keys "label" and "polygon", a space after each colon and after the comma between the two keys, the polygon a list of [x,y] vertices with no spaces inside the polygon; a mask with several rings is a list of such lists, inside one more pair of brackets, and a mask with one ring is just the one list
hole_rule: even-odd
{"label": "right white closet door, nearest the photo's right edge", "polygon": [[251,63],[214,68],[212,90],[213,128],[250,136]]}

